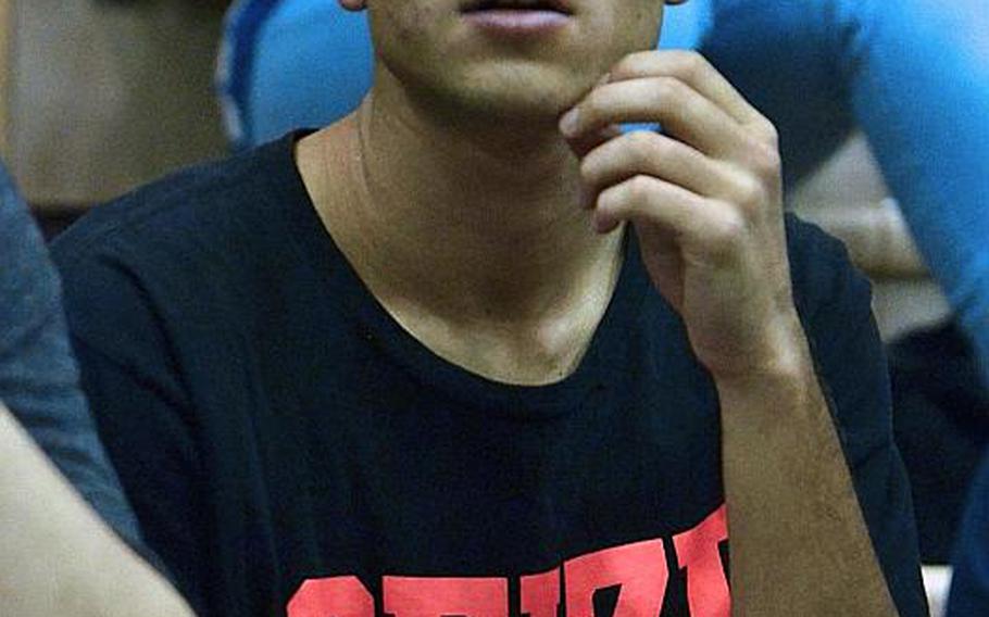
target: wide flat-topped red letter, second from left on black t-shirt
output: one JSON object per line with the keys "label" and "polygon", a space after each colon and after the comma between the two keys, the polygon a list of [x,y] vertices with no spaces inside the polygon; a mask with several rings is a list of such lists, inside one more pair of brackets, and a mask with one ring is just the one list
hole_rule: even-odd
{"label": "wide flat-topped red letter, second from left on black t-shirt", "polygon": [[395,617],[506,617],[509,581],[502,578],[385,577],[385,612]]}

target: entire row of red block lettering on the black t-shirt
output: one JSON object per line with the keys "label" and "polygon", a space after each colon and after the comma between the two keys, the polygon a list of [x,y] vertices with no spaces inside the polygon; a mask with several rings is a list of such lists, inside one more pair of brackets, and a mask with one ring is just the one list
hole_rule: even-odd
{"label": "entire row of red block lettering on the black t-shirt", "polygon": [[[731,596],[718,545],[728,540],[727,511],[721,506],[697,527],[673,538],[687,576],[692,617],[728,617]],[[568,617],[593,617],[594,594],[618,587],[614,617],[656,617],[669,572],[661,539],[574,557],[562,568]],[[555,617],[561,604],[561,569],[519,579],[519,609],[529,617]],[[508,617],[504,578],[383,578],[385,612],[395,617]],[[305,581],[287,606],[288,617],[374,617],[371,593],[353,576]]]}

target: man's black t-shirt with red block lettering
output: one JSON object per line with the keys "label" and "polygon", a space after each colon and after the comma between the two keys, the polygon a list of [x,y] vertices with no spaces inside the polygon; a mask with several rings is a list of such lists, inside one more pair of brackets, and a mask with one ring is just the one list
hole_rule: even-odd
{"label": "man's black t-shirt with red block lettering", "polygon": [[[727,615],[715,390],[634,239],[576,372],[493,382],[431,353],[361,284],[295,138],[99,207],[54,248],[101,436],[193,605]],[[873,541],[901,614],[922,615],[868,286],[838,242],[788,231]]]}

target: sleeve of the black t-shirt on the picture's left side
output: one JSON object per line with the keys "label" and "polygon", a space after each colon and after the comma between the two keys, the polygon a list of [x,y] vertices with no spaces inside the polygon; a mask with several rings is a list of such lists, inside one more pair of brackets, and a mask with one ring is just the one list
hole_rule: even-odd
{"label": "sleeve of the black t-shirt on the picture's left side", "polygon": [[145,540],[206,615],[203,488],[185,389],[136,268],[100,243],[54,250],[83,389]]}

